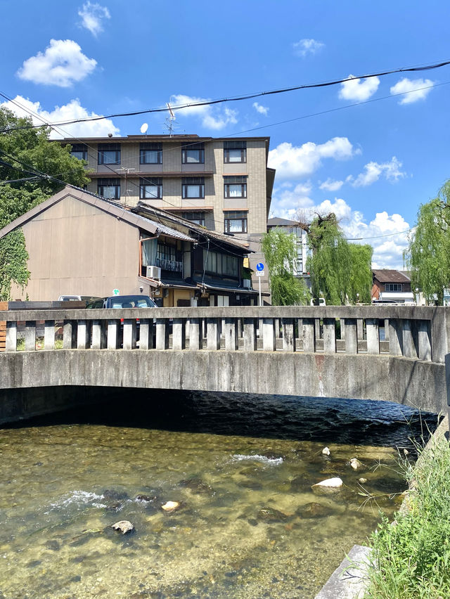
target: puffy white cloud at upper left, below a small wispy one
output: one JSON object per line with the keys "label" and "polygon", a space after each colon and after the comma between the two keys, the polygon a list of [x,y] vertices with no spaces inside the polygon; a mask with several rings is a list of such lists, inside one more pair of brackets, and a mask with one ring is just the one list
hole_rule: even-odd
{"label": "puffy white cloud at upper left, below a small wispy one", "polygon": [[82,81],[96,67],[94,58],[87,58],[76,41],[71,39],[51,39],[44,53],[28,58],[18,70],[20,79],[70,87],[74,82]]}

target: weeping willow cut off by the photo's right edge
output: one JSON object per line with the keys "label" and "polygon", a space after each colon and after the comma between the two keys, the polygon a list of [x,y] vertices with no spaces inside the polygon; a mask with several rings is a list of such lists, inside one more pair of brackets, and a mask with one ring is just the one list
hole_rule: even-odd
{"label": "weeping willow cut off by the photo's right edge", "polygon": [[412,287],[420,288],[427,302],[437,296],[442,305],[444,288],[450,287],[450,179],[436,198],[420,205],[404,257]]}

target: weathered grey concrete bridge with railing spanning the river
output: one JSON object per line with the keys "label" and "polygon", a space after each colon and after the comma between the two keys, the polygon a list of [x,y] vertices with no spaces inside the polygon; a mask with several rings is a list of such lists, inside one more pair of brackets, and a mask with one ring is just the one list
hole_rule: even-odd
{"label": "weathered grey concrete bridge with railing spanning the river", "polygon": [[0,422],[45,411],[11,399],[13,389],[19,397],[30,387],[202,389],[447,408],[444,307],[26,310],[0,311],[0,321],[0,389],[8,396],[6,407],[0,399]]}

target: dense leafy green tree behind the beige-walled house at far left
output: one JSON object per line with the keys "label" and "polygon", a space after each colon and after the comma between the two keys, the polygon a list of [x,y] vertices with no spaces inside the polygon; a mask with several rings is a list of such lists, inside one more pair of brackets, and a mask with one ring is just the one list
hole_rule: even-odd
{"label": "dense leafy green tree behind the beige-walled house at far left", "polygon": [[[0,228],[50,198],[66,183],[84,186],[84,163],[70,155],[70,146],[49,141],[50,129],[30,129],[31,118],[0,108]],[[0,240],[0,299],[10,299],[11,283],[24,287],[27,250],[22,231]]]}

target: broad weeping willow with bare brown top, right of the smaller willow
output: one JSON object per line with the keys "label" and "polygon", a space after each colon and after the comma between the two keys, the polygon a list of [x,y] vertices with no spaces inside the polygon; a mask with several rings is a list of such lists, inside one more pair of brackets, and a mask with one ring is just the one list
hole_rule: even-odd
{"label": "broad weeping willow with bare brown top, right of the smaller willow", "polygon": [[354,304],[358,299],[370,302],[371,246],[348,243],[333,212],[318,214],[301,226],[307,231],[313,298],[324,297],[332,305]]}

